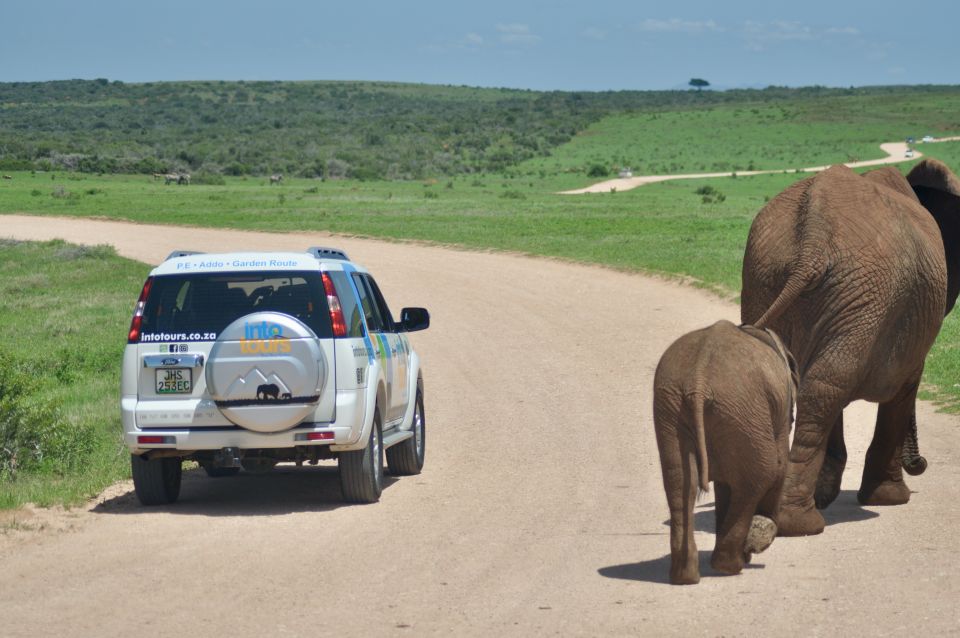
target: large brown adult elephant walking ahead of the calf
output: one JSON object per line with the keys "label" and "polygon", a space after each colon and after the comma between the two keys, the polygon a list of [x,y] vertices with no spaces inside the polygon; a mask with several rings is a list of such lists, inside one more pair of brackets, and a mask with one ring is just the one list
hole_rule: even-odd
{"label": "large brown adult elephant walking ahead of the calf", "polygon": [[[929,192],[918,196],[921,183]],[[823,531],[817,507],[839,493],[843,408],[857,399],[880,404],[858,500],[909,500],[900,453],[948,289],[949,306],[956,299],[947,268],[950,261],[956,274],[956,259],[945,256],[941,226],[960,214],[958,185],[938,162],[908,179],[893,168],[861,176],[834,166],[789,187],[754,219],[741,317],[775,330],[801,375],[781,535]]]}

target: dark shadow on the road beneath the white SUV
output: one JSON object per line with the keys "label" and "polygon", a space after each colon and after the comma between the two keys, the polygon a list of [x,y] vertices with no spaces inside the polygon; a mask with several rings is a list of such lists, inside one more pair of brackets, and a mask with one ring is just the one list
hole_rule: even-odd
{"label": "dark shadow on the road beneath the white SUV", "polygon": [[[397,479],[384,476],[383,489]],[[180,498],[171,505],[144,507],[131,486],[122,494],[98,503],[95,514],[149,514],[181,516],[275,516],[296,512],[327,512],[345,503],[340,494],[337,467],[278,466],[265,474],[240,472],[211,478],[202,469],[185,470]]]}

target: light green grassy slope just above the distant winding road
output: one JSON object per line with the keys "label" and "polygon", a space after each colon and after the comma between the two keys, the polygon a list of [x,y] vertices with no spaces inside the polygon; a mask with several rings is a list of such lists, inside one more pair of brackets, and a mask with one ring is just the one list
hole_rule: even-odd
{"label": "light green grassy slope just above the distant winding road", "polygon": [[[960,131],[960,94],[830,97],[780,104],[718,105],[604,118],[522,174],[589,184],[590,167],[634,175],[805,168],[877,159],[879,145]],[[852,124],[854,123],[855,124]]]}

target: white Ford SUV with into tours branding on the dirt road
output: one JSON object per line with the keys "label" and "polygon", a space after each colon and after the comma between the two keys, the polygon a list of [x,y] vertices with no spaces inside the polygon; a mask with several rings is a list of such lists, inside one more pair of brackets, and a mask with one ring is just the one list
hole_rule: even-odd
{"label": "white Ford SUV with into tours branding on the dirt road", "polygon": [[338,460],[345,500],[423,467],[420,359],[376,281],[343,251],[178,251],[137,301],[121,375],[124,443],[144,505],[177,500],[182,462],[211,477]]}

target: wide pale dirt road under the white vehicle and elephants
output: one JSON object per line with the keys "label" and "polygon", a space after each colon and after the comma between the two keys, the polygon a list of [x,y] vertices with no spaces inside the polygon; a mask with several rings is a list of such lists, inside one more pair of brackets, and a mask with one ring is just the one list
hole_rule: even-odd
{"label": "wide pale dirt road under the white vehicle and elephants", "polygon": [[0,635],[960,634],[960,429],[928,404],[930,468],[908,505],[856,503],[875,409],[855,404],[822,535],[777,539],[721,577],[708,495],[704,578],[666,584],[653,371],[683,332],[736,320],[734,305],[600,268],[319,234],[3,216],[0,236],[110,242],[151,263],[174,248],[332,244],[371,267],[392,307],[433,316],[412,337],[423,474],[368,506],[341,504],[327,466],[191,473],[172,507],[142,508],[119,484],[89,508],[21,513],[0,534]]}

